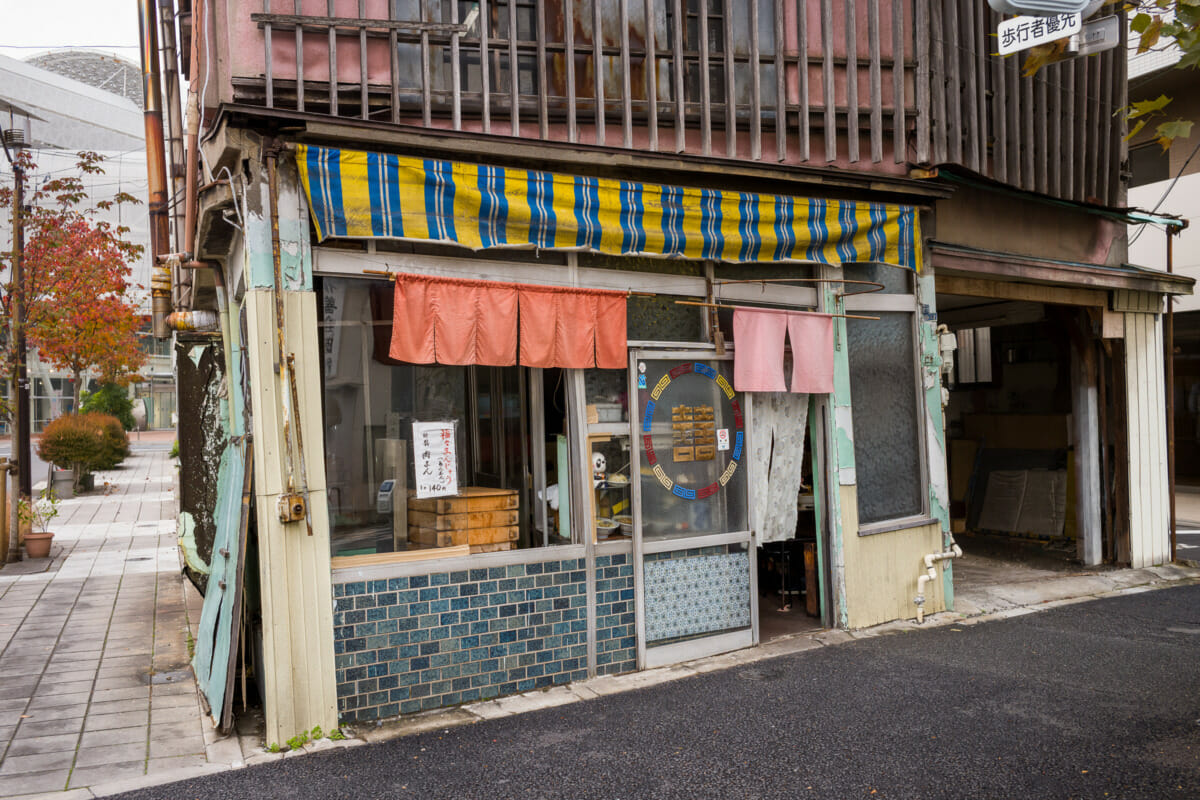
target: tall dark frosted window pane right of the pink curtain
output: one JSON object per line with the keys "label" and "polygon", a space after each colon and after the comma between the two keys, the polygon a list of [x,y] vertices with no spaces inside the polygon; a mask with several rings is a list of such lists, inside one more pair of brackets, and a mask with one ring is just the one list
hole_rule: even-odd
{"label": "tall dark frosted window pane right of the pink curtain", "polygon": [[912,314],[846,320],[860,524],[924,510]]}

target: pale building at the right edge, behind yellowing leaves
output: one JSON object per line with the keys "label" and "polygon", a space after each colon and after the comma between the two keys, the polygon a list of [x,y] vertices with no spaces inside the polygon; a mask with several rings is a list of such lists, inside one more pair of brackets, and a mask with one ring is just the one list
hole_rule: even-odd
{"label": "pale building at the right edge, behind yellowing leaves", "polygon": [[[1178,50],[1130,59],[1130,102],[1162,95],[1172,100],[1164,115],[1152,120],[1129,143],[1129,204],[1188,222],[1174,236],[1172,269],[1178,275],[1200,278],[1200,91],[1196,91],[1196,71],[1176,68],[1177,60]],[[1159,121],[1174,119],[1198,125],[1192,136],[1177,139],[1164,151],[1152,131]],[[1157,225],[1132,229],[1129,257],[1138,264],[1165,270],[1164,229]],[[1200,297],[1194,295],[1175,300],[1174,357],[1175,476],[1178,483],[1195,487],[1200,486]]]}

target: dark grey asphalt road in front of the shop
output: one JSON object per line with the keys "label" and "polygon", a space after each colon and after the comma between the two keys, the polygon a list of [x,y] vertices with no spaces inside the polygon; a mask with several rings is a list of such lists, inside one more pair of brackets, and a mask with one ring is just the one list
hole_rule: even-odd
{"label": "dark grey asphalt road in front of the shop", "polygon": [[1200,585],[857,640],[120,796],[1196,798]]}

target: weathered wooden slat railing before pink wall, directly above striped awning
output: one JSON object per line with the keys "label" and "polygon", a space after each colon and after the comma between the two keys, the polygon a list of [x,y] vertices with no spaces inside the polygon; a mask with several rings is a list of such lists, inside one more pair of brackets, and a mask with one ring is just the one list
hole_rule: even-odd
{"label": "weathered wooden slat railing before pink wall, directly above striped awning", "polygon": [[[414,0],[254,13],[235,100],[338,118],[902,172],[913,0]],[[342,4],[338,4],[342,7]],[[304,13],[304,12],[308,13]],[[922,137],[916,137],[922,139]]]}

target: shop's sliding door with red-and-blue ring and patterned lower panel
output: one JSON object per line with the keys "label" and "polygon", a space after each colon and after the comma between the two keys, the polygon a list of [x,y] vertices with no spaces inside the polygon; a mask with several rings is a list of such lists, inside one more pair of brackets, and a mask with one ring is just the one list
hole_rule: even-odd
{"label": "shop's sliding door with red-and-blue ring and patterned lower panel", "polygon": [[757,615],[744,398],[712,351],[634,351],[637,660],[754,644]]}

